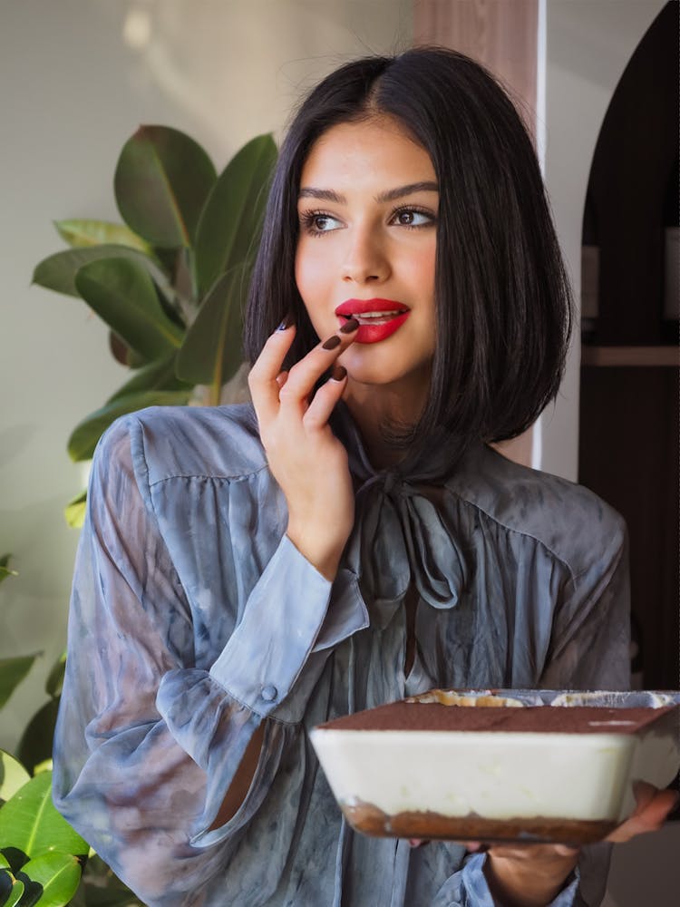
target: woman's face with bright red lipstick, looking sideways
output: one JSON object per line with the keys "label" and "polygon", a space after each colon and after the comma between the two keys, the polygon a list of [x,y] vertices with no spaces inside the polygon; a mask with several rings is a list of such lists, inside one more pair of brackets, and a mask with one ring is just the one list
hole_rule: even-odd
{"label": "woman's face with bright red lipstick, looking sideways", "polygon": [[439,201],[430,157],[392,118],[341,123],[312,146],[297,203],[296,283],[323,340],[360,326],[340,362],[353,383],[429,385]]}

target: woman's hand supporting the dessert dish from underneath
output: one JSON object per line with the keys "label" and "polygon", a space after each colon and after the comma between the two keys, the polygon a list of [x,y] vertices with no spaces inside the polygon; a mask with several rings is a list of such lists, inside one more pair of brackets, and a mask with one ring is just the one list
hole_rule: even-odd
{"label": "woman's hand supporting the dessert dish from underneath", "polygon": [[[636,809],[606,841],[622,844],[656,832],[680,800],[675,791],[645,782],[635,787]],[[478,842],[468,850],[480,850]],[[566,844],[491,844],[484,872],[491,892],[508,907],[545,907],[559,893],[578,862],[578,848]]]}

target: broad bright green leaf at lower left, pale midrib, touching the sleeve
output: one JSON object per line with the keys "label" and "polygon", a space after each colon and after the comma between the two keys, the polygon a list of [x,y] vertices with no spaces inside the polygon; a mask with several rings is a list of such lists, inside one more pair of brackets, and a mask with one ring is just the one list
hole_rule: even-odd
{"label": "broad bright green leaf at lower left, pale midrib, touching the sleeve", "polygon": [[29,860],[47,851],[84,856],[89,845],[52,802],[52,772],[31,778],[0,808],[0,849],[24,853]]}

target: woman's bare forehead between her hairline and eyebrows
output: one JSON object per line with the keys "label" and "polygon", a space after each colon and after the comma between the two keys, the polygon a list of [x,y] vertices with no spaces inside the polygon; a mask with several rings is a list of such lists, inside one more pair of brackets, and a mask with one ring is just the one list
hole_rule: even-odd
{"label": "woman's bare forehead between her hairline and eyebrows", "polygon": [[430,155],[392,117],[380,116],[331,126],[312,145],[301,187],[435,180]]}

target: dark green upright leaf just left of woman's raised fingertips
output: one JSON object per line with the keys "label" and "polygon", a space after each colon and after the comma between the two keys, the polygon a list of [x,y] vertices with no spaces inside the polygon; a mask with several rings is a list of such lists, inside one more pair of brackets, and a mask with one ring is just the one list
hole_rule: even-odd
{"label": "dark green upright leaf just left of woman's raised fingertips", "polygon": [[177,356],[177,374],[197,385],[221,387],[243,361],[242,300],[247,268],[232,268],[210,291]]}

